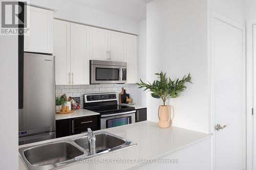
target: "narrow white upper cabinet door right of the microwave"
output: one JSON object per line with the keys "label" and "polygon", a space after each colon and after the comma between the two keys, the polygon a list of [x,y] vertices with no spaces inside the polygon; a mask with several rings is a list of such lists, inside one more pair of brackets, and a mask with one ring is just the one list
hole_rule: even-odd
{"label": "narrow white upper cabinet door right of the microwave", "polygon": [[127,83],[138,81],[138,37],[124,34],[124,61],[127,62]]}

